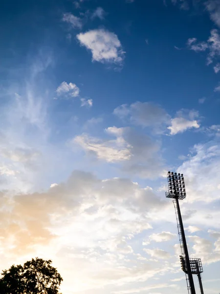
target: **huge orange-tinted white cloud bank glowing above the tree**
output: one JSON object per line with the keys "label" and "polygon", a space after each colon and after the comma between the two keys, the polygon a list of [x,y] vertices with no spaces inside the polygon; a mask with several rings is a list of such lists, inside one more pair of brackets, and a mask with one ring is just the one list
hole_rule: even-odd
{"label": "huge orange-tinted white cloud bank glowing above the tree", "polygon": [[[129,179],[99,179],[89,172],[75,171],[66,182],[54,184],[48,191],[18,195],[7,191],[0,198],[6,208],[0,218],[3,267],[6,260],[17,262],[21,256],[25,260],[33,254],[41,253],[43,258],[49,254],[67,280],[68,272],[75,271],[79,291],[145,281],[169,270],[161,270],[153,261],[137,264],[133,259],[127,264],[133,252],[132,238],[152,228],[148,212],[160,211],[165,205],[152,189],[143,189]],[[162,252],[155,254],[164,256]]]}

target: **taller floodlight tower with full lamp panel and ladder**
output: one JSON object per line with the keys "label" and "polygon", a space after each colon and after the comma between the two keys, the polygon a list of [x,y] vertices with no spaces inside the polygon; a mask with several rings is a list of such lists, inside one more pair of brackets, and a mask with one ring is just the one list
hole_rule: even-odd
{"label": "taller floodlight tower with full lamp panel and ladder", "polygon": [[187,282],[187,289],[189,294],[196,294],[194,281],[193,281],[193,274],[191,270],[190,265],[190,258],[186,243],[186,237],[182,222],[182,216],[180,212],[179,207],[179,199],[182,200],[186,197],[186,190],[185,190],[185,182],[183,174],[181,173],[174,173],[174,172],[168,172],[167,173],[167,179],[168,179],[168,191],[165,193],[166,197],[173,198],[173,203],[175,207],[176,212],[176,221],[177,221],[177,228],[178,228],[178,234],[179,234],[179,242],[180,247],[182,251],[182,255],[184,256],[185,260],[185,274],[186,274],[186,282]]}

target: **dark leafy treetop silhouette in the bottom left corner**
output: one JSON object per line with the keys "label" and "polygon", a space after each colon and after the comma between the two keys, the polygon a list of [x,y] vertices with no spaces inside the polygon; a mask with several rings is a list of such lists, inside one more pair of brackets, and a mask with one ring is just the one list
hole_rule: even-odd
{"label": "dark leafy treetop silhouette in the bottom left corner", "polygon": [[63,281],[51,260],[40,258],[2,271],[0,294],[59,294]]}

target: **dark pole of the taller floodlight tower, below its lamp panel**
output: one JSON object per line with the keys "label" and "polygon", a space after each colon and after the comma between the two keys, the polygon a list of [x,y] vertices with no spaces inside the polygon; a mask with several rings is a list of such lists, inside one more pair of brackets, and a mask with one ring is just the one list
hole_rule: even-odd
{"label": "dark pole of the taller floodlight tower, below its lamp panel", "polygon": [[186,244],[186,237],[185,237],[185,232],[184,232],[184,227],[183,227],[183,222],[182,222],[182,216],[181,216],[180,207],[179,207],[179,200],[178,200],[177,196],[176,196],[176,205],[177,205],[177,211],[178,211],[178,217],[179,217],[179,224],[180,224],[181,233],[182,233],[182,243],[183,243],[183,246],[184,246],[187,273],[188,273],[188,276],[189,276],[191,293],[196,294],[194,281],[193,281],[193,274],[192,274],[191,266],[190,266],[189,253],[188,253],[188,248],[187,248],[187,244]]}

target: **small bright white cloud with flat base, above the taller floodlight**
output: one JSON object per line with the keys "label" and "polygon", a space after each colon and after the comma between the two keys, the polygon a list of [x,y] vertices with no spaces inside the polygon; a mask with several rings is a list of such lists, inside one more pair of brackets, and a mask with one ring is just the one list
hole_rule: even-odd
{"label": "small bright white cloud with flat base, above the taller floodlight", "polygon": [[198,121],[194,119],[196,117],[198,117],[198,112],[195,111],[190,111],[188,114],[184,114],[183,111],[177,112],[177,117],[171,120],[171,126],[168,127],[170,134],[176,135],[187,129],[199,128]]}

